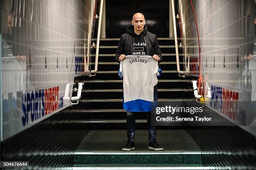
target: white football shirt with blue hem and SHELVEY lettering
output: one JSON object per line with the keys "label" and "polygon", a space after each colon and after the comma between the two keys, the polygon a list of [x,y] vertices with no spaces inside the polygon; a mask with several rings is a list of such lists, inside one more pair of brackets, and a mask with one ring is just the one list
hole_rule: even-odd
{"label": "white football shirt with blue hem and SHELVEY lettering", "polygon": [[158,61],[152,56],[126,56],[120,61],[119,77],[123,76],[123,109],[150,112],[157,103]]}

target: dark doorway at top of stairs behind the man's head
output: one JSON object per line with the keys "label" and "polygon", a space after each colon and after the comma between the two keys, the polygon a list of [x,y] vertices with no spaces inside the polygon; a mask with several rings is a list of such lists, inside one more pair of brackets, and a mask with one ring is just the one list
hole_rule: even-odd
{"label": "dark doorway at top of stairs behind the man's head", "polygon": [[169,0],[106,0],[106,38],[120,38],[134,13],[143,13],[148,31],[169,37]]}

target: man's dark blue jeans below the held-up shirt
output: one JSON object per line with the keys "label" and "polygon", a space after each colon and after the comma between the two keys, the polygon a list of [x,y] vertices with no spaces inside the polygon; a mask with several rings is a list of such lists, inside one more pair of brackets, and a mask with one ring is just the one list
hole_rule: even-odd
{"label": "man's dark blue jeans below the held-up shirt", "polygon": [[[148,142],[156,141],[156,127],[151,126],[151,112],[146,112],[147,114],[147,124],[148,124]],[[127,137],[128,140],[135,141],[135,115],[134,112],[127,112],[126,114],[126,124],[127,124]]]}

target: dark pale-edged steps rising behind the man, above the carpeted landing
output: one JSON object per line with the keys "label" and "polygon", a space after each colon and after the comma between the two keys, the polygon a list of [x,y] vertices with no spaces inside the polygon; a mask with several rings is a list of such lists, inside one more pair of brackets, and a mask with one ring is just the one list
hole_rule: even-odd
{"label": "dark pale-edged steps rising behind the man, above the carpeted landing", "polygon": [[[126,128],[126,111],[123,110],[123,80],[118,79],[119,63],[115,62],[119,38],[105,38],[100,41],[98,71],[96,76],[84,81],[87,84],[82,90],[79,102],[87,103],[86,109],[79,111],[89,113],[88,128]],[[176,66],[175,46],[173,38],[159,38],[160,49],[163,55],[158,80],[159,101],[179,101],[192,98],[192,85],[189,80],[178,76]],[[179,51],[181,53],[181,49]],[[180,58],[183,69],[182,55]],[[94,59],[94,58],[93,58]],[[92,61],[94,68],[94,61]],[[143,113],[136,114],[136,122],[146,124]]]}

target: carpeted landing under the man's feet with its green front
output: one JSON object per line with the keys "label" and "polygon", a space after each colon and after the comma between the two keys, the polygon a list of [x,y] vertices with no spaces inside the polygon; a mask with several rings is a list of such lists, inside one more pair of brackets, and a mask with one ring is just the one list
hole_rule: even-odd
{"label": "carpeted landing under the man's feet with its green front", "polygon": [[[137,125],[137,124],[136,124]],[[137,126],[136,126],[137,127]],[[172,129],[172,130],[171,130]],[[136,150],[124,152],[126,129],[92,129],[74,152],[80,166],[202,166],[202,152],[184,129],[162,129],[157,132],[162,151],[148,150],[148,130],[136,128]],[[148,165],[147,165],[148,164]],[[127,169],[128,170],[128,169]]]}

